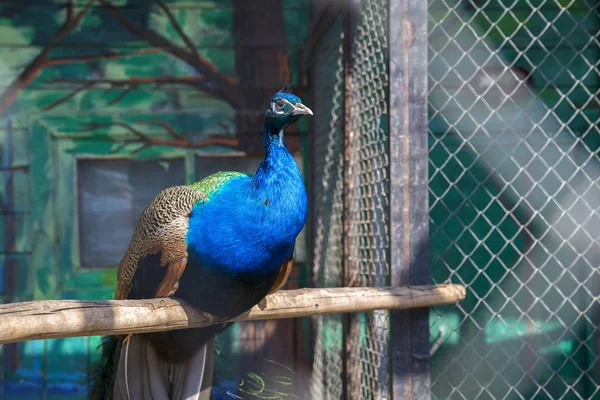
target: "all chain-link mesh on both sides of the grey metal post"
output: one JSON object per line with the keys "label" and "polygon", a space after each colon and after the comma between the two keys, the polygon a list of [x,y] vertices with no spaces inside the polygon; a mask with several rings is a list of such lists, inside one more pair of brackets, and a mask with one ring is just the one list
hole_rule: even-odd
{"label": "all chain-link mesh on both sides of the grey metal post", "polygon": [[[318,286],[390,282],[388,2],[359,3],[314,49]],[[430,0],[428,16],[431,281],[467,288],[431,309],[432,398],[599,397],[598,4]],[[391,398],[388,326],[319,318],[311,398]]]}

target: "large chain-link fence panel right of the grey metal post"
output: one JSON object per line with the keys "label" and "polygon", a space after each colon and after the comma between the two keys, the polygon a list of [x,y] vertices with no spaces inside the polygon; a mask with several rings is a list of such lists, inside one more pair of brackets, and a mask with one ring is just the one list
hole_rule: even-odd
{"label": "large chain-link fence panel right of the grey metal post", "polygon": [[598,5],[429,3],[433,397],[600,396]]}

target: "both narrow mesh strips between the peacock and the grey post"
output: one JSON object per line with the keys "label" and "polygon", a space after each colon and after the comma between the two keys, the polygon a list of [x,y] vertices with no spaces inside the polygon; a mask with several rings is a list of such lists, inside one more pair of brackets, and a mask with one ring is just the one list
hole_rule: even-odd
{"label": "both narrow mesh strips between the peacock and the grey post", "polygon": [[[347,163],[341,20],[315,49],[313,274],[319,285],[389,283],[387,7],[377,0],[353,10]],[[388,313],[353,315],[346,337],[343,326],[341,316],[318,320],[312,398],[390,398]]]}

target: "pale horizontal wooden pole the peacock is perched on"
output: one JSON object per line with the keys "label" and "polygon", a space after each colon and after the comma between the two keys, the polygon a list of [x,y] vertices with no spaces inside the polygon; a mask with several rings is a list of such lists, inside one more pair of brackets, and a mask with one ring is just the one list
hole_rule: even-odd
{"label": "pale horizontal wooden pole the peacock is perched on", "polygon": [[[407,309],[454,304],[460,285],[282,290],[231,321]],[[121,335],[216,325],[219,318],[171,298],[44,300],[0,305],[0,344],[73,336]]]}

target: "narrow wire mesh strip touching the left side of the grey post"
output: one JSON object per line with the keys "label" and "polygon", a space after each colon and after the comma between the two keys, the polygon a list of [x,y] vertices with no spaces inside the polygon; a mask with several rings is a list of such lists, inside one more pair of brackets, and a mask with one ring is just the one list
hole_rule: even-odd
{"label": "narrow wire mesh strip touching the left side of the grey post", "polygon": [[[389,283],[387,7],[386,0],[361,2],[350,44],[345,271],[349,286]],[[388,336],[386,311],[351,318],[347,354],[351,398],[390,398]]]}

